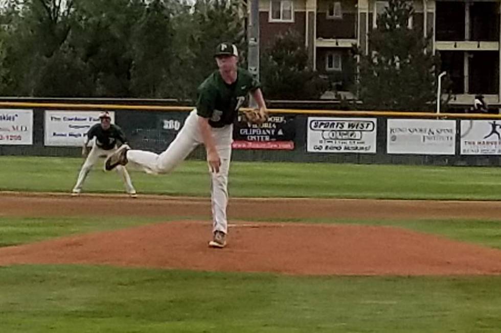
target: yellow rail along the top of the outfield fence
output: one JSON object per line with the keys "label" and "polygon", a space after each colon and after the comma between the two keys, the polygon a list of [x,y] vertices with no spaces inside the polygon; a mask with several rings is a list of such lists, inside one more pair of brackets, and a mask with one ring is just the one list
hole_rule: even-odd
{"label": "yellow rail along the top of the outfield fence", "polygon": [[[0,102],[0,107],[7,108],[50,108],[83,110],[144,110],[144,111],[191,111],[193,107],[160,105],[118,105],[118,104],[73,104],[73,103],[27,103]],[[412,118],[465,118],[465,119],[501,119],[501,114],[481,113],[434,113],[434,112],[396,112],[396,111],[340,111],[340,110],[292,110],[269,109],[275,114],[303,114],[317,116],[373,116],[373,117],[412,117]]]}

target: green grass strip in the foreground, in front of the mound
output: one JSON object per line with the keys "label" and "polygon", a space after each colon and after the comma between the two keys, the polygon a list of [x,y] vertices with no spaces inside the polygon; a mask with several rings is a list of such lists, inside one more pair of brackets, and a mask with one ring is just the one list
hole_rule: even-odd
{"label": "green grass strip in the foreground, in front of the mound", "polygon": [[491,277],[0,268],[3,332],[497,332]]}

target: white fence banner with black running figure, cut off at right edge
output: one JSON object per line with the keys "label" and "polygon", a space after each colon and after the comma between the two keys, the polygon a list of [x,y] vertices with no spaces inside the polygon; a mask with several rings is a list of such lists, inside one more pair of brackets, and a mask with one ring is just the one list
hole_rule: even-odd
{"label": "white fence banner with black running figure, cut off at right edge", "polygon": [[501,155],[501,120],[461,120],[461,155]]}

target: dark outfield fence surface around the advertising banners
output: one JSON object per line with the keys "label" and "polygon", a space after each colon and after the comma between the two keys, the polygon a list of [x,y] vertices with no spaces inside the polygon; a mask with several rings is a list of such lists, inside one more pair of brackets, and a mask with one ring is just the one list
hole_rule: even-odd
{"label": "dark outfield fence surface around the advertising banners", "polygon": [[[151,109],[148,109],[150,108]],[[61,106],[43,104],[36,105],[2,105],[4,109],[31,109],[33,110],[33,144],[32,145],[2,145],[0,144],[0,155],[28,155],[28,156],[80,156],[80,147],[66,146],[46,146],[45,139],[45,111],[46,110],[92,110],[102,111],[99,107],[93,106],[86,108],[78,105]],[[171,109],[158,109],[152,106],[142,106],[134,108],[128,106],[123,109],[117,107],[113,109],[112,105],[106,107],[108,111],[115,112],[115,123],[120,125],[124,130],[130,145],[136,149],[145,149],[154,152],[161,152],[172,142],[177,135],[181,126],[183,126],[186,117],[190,112],[190,108],[171,107]],[[274,116],[283,116],[287,118],[287,126],[277,129],[284,130],[288,142],[293,142],[293,149],[290,150],[274,150],[274,149],[233,149],[232,159],[235,161],[273,161],[273,162],[326,162],[326,163],[355,163],[355,164],[415,164],[415,165],[462,165],[462,166],[497,166],[499,165],[501,155],[461,155],[460,147],[460,130],[461,119],[481,118],[481,119],[498,119],[499,116],[471,116],[462,115],[456,117],[454,115],[440,115],[437,117],[430,114],[412,115],[409,113],[390,113],[390,112],[344,112],[343,114],[336,112],[323,111],[321,114],[315,114],[314,111],[294,111],[294,110],[271,110]],[[307,151],[307,124],[308,117],[321,116],[337,118],[372,118],[377,119],[376,126],[376,149],[375,153],[356,153],[356,152],[308,152]],[[456,153],[454,155],[426,155],[426,154],[410,154],[387,153],[387,134],[386,126],[388,119],[453,119],[456,121],[456,133],[454,133],[456,142]],[[501,120],[498,121],[501,123]],[[501,129],[501,125],[499,125]],[[500,130],[501,131],[501,130]],[[245,131],[244,131],[245,132]],[[272,140],[280,140],[280,138]],[[251,140],[256,139],[252,137]],[[501,144],[501,140],[499,140]],[[290,148],[290,147],[289,147]],[[189,159],[204,159],[204,150],[202,147],[195,149]]]}

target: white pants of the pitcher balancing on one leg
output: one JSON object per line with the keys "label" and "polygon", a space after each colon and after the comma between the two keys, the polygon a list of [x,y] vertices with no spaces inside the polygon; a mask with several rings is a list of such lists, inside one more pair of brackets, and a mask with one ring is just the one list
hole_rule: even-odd
{"label": "white pants of the pitcher balancing on one leg", "polygon": [[[233,124],[219,129],[211,127],[216,149],[221,159],[218,173],[211,172],[213,231],[227,232],[228,172],[232,155]],[[185,160],[190,152],[203,143],[198,127],[198,115],[193,110],[167,150],[157,155],[144,150],[127,151],[127,160],[139,164],[147,173],[168,173]]]}

